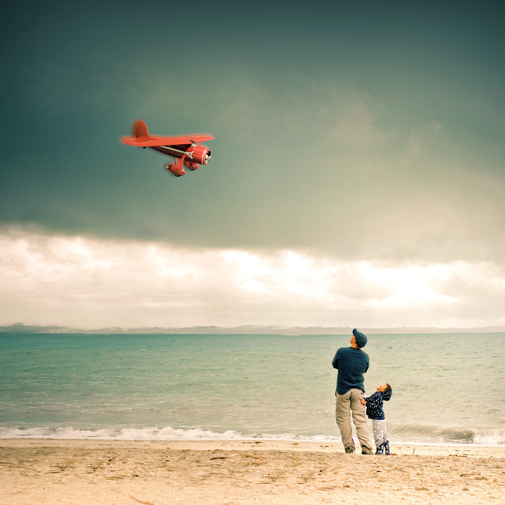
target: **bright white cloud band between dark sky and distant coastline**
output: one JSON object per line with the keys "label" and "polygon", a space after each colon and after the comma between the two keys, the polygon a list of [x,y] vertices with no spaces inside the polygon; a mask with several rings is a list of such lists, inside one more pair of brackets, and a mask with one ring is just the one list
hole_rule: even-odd
{"label": "bright white cloud band between dark sky and distant coastline", "polygon": [[496,264],[339,262],[0,233],[0,325],[474,327],[505,323]]}

